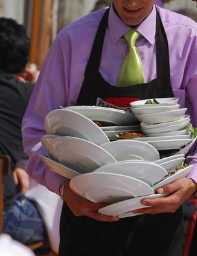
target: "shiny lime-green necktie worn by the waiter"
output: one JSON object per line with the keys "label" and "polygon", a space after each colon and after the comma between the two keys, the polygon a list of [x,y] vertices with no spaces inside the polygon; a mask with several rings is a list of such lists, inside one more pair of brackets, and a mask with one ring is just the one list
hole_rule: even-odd
{"label": "shiny lime-green necktie worn by the waiter", "polygon": [[141,36],[136,30],[129,30],[124,34],[125,40],[129,44],[129,51],[122,64],[119,74],[118,86],[131,86],[133,84],[142,84],[144,82],[143,64],[137,51],[135,43]]}

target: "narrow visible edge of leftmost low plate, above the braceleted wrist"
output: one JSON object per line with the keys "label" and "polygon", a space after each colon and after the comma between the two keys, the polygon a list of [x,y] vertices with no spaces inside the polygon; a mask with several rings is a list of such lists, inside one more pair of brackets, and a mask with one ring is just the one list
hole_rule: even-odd
{"label": "narrow visible edge of leftmost low plate, above the braceleted wrist", "polygon": [[56,172],[57,174],[60,174],[61,176],[64,176],[65,178],[72,179],[75,176],[80,175],[79,172],[76,172],[76,170],[70,169],[69,167],[65,167],[64,165],[61,165],[60,163],[57,163],[56,161],[53,161],[52,159],[39,155],[41,161],[49,167],[52,172]]}

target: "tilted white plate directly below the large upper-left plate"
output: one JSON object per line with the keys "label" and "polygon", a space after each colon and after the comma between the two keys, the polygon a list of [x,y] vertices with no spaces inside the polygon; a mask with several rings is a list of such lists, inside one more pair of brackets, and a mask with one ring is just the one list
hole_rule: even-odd
{"label": "tilted white plate directly below the large upper-left plate", "polygon": [[80,173],[91,172],[102,165],[116,162],[109,152],[98,145],[76,137],[58,137],[51,141],[50,156]]}

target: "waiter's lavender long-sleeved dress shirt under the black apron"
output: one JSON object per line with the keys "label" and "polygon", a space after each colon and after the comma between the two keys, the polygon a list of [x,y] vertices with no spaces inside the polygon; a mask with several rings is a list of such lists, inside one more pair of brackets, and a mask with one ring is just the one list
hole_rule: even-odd
{"label": "waiter's lavender long-sleeved dress shirt under the black apron", "polygon": [[[49,111],[61,106],[75,105],[84,80],[84,71],[93,46],[98,24],[105,9],[82,17],[63,29],[51,46],[29,106],[23,119],[23,141],[30,155],[27,172],[38,183],[58,194],[64,177],[47,169],[38,154],[46,155],[40,139],[45,134],[44,120]],[[185,16],[159,8],[169,43],[171,83],[174,95],[179,97],[181,108],[187,107],[193,126],[197,126],[197,23]],[[100,73],[110,84],[117,84],[119,71],[128,51],[122,36],[130,30],[110,9]],[[156,78],[156,8],[154,6],[137,30],[142,34],[137,48],[143,62],[145,82]],[[94,86],[94,85],[93,85]],[[197,154],[197,152],[196,152]],[[190,177],[197,181],[197,158]]]}

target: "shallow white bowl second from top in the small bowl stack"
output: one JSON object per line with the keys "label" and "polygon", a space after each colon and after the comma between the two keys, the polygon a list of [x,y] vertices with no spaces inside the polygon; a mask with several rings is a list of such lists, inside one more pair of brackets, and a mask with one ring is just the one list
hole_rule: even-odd
{"label": "shallow white bowl second from top in the small bowl stack", "polygon": [[175,104],[172,106],[157,106],[157,108],[132,108],[132,112],[134,115],[144,115],[158,112],[165,112],[170,110],[178,110],[180,108],[179,104]]}

